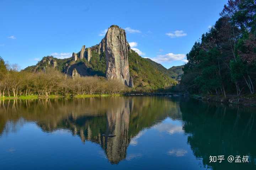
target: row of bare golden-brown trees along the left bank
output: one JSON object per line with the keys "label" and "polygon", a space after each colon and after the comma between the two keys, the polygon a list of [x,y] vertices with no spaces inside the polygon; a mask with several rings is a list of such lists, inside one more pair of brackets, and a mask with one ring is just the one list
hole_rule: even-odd
{"label": "row of bare golden-brown trees along the left bank", "polygon": [[104,77],[72,78],[54,68],[40,72],[18,71],[17,65],[9,66],[0,57],[0,97],[49,95],[114,95],[127,90],[117,80]]}

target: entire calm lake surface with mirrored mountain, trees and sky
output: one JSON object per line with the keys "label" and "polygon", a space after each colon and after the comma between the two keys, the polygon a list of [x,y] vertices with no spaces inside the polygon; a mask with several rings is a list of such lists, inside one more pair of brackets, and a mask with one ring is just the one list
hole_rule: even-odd
{"label": "entire calm lake surface with mirrored mountain, trees and sky", "polygon": [[254,108],[185,98],[5,100],[0,169],[256,169],[255,118]]}

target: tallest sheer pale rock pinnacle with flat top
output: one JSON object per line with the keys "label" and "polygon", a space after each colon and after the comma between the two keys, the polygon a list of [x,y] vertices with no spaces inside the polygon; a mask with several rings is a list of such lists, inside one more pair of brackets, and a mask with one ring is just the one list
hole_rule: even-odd
{"label": "tallest sheer pale rock pinnacle with flat top", "polygon": [[116,79],[129,85],[129,63],[128,51],[130,46],[126,40],[124,29],[118,26],[111,26],[101,41],[100,47],[106,55],[106,77]]}

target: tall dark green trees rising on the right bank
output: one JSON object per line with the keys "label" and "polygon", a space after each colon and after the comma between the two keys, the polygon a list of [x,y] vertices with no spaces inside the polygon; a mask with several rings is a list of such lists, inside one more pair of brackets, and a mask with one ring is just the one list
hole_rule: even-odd
{"label": "tall dark green trees rising on the right bank", "polygon": [[255,94],[256,1],[229,0],[187,54],[181,86],[193,94]]}

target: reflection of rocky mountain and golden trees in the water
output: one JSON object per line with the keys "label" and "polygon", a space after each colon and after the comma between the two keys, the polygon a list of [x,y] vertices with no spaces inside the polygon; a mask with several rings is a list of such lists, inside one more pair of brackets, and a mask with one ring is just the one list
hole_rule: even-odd
{"label": "reflection of rocky mountain and golden trees in the water", "polygon": [[[141,135],[142,129],[154,126],[168,116],[174,119],[181,118],[177,103],[154,97],[0,102],[0,134],[8,134],[9,126],[22,126],[21,122],[24,120],[36,122],[44,132],[67,129],[74,136],[79,136],[83,143],[98,143],[112,164],[118,164],[126,159],[128,145],[135,145],[135,140]],[[159,125],[155,128],[161,129]],[[175,131],[175,128],[182,129],[166,128],[170,128],[170,131]],[[129,155],[127,160],[133,157],[134,155]]]}

